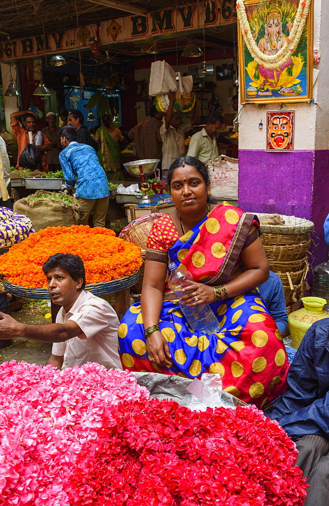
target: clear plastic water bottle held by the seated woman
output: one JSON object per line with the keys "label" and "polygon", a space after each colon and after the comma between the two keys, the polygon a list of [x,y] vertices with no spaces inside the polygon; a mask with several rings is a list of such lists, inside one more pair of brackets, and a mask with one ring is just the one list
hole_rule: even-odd
{"label": "clear plastic water bottle held by the seated woman", "polygon": [[[193,276],[191,272],[185,269],[177,269],[174,263],[169,264],[170,276],[168,280],[169,288],[176,293],[180,299],[183,295],[191,293],[182,291],[193,284]],[[193,330],[198,330],[204,334],[216,334],[220,331],[219,322],[214,315],[209,304],[200,304],[199,306],[183,306],[179,301],[179,306],[186,320],[189,322]]]}

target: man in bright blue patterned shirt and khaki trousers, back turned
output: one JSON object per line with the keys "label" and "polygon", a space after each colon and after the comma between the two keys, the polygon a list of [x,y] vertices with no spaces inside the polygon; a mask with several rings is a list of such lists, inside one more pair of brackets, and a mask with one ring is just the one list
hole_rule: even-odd
{"label": "man in bright blue patterned shirt and khaki trousers, back turned", "polygon": [[87,225],[92,211],[94,227],[105,227],[109,207],[109,185],[103,167],[100,165],[95,149],[77,142],[77,129],[62,126],[59,131],[63,151],[59,160],[69,190],[73,190],[79,202],[78,225]]}

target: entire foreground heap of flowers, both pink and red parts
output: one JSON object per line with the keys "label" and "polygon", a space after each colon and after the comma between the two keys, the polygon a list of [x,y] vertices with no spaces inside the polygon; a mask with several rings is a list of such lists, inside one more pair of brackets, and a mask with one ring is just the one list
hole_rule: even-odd
{"label": "entire foreground heap of flowers, both pink and red parts", "polygon": [[0,504],[302,506],[294,442],[255,408],[192,412],[128,372],[0,365]]}

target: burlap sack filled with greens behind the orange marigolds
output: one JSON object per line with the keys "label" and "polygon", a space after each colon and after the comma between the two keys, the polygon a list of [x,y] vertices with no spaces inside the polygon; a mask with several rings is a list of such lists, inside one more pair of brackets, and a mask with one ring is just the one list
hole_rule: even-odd
{"label": "burlap sack filled with greens behind the orange marigolds", "polygon": [[14,212],[27,216],[33,223],[35,232],[39,232],[39,230],[46,227],[77,225],[79,206],[74,197],[72,197],[73,204],[67,204],[62,200],[52,198],[52,192],[38,190],[34,195],[38,193],[46,193],[49,198],[41,198],[35,202],[30,202],[29,197],[24,197],[14,203]]}

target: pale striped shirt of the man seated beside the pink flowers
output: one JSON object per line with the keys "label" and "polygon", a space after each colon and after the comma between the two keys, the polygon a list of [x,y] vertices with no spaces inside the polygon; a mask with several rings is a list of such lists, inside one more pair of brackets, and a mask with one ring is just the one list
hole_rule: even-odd
{"label": "pale striped shirt of the man seated beside the pink flowers", "polygon": [[56,323],[75,321],[86,336],[53,344],[53,355],[62,357],[62,369],[80,367],[86,362],[96,362],[107,369],[122,369],[118,353],[119,320],[110,304],[90,292],[82,290],[70,311],[62,307]]}

